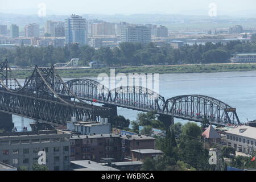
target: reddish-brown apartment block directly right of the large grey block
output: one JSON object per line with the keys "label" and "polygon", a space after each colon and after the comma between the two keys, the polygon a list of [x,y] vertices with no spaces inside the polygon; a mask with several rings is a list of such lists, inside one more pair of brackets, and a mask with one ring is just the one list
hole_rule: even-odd
{"label": "reddish-brown apartment block directly right of the large grey block", "polygon": [[121,137],[115,134],[76,135],[71,137],[71,160],[93,160],[102,158],[121,159]]}

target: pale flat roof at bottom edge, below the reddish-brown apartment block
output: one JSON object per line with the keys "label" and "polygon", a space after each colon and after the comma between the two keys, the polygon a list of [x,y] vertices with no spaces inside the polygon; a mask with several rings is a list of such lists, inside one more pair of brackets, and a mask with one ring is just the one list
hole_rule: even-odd
{"label": "pale flat roof at bottom edge, below the reddish-brown apartment block", "polygon": [[113,167],[102,166],[91,160],[75,160],[71,161],[73,171],[119,171]]}

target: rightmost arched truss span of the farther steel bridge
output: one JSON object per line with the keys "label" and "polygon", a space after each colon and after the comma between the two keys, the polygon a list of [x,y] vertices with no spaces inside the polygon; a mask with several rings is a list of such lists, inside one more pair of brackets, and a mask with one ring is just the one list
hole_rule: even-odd
{"label": "rightmost arched truss span of the farther steel bridge", "polygon": [[216,125],[241,124],[236,108],[208,96],[185,95],[169,98],[163,112],[191,121],[201,122],[206,118]]}

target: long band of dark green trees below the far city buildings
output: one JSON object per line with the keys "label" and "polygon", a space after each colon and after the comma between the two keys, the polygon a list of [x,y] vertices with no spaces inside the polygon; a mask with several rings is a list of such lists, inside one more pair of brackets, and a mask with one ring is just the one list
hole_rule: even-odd
{"label": "long band of dark green trees below the far city buildings", "polygon": [[65,47],[32,47],[20,46],[14,49],[0,49],[1,59],[8,59],[18,66],[47,66],[55,63],[66,63],[74,57],[80,58],[81,65],[88,65],[92,60],[104,61],[107,65],[161,65],[161,64],[208,64],[229,61],[233,53],[256,52],[256,35],[251,42],[233,41],[222,43],[182,46],[173,49],[170,44],[156,47],[154,43],[121,43],[119,47],[102,47],[98,50],[79,47],[72,44]]}

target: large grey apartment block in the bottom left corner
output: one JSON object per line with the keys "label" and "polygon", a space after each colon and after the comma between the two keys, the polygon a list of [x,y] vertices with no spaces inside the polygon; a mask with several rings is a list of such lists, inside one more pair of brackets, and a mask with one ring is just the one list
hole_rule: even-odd
{"label": "large grey apartment block in the bottom left corner", "polygon": [[0,162],[31,170],[38,163],[39,151],[45,151],[50,171],[69,170],[70,137],[60,130],[0,133]]}

